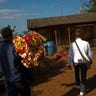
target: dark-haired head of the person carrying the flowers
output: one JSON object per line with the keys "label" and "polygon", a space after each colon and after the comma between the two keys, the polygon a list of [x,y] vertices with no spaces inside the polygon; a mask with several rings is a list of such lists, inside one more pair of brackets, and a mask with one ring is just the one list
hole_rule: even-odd
{"label": "dark-haired head of the person carrying the flowers", "polygon": [[3,39],[9,39],[12,40],[13,39],[13,34],[12,34],[12,30],[10,28],[10,26],[4,27],[1,29],[1,35]]}

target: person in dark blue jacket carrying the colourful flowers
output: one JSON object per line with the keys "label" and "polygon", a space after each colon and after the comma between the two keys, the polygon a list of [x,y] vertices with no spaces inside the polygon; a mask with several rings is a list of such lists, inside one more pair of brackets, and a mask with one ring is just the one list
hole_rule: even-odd
{"label": "person in dark blue jacket carrying the colourful flowers", "polygon": [[32,96],[29,80],[22,71],[22,58],[14,48],[13,32],[10,26],[2,28],[1,35],[0,66],[7,96],[19,96],[19,94],[20,96]]}

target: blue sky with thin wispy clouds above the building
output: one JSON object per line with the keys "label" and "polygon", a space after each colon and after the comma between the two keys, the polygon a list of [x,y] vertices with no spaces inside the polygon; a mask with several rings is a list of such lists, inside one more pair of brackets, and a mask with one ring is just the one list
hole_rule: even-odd
{"label": "blue sky with thin wispy clouds above the building", "polygon": [[15,32],[28,31],[27,19],[66,16],[80,13],[89,0],[0,0],[0,29],[8,24]]}

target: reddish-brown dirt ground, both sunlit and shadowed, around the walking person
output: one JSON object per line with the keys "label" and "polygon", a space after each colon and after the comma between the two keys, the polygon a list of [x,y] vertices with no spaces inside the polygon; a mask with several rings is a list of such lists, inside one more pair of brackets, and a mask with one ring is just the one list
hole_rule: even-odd
{"label": "reddish-brown dirt ground, both sunlit and shadowed, around the walking person", "polygon": [[[79,96],[79,90],[74,88],[74,68],[67,71],[66,63],[58,63],[45,58],[38,68],[34,69],[32,80],[32,96]],[[96,52],[91,69],[87,74],[87,93],[85,96],[96,96]],[[1,88],[0,88],[1,89]],[[0,91],[0,96],[5,96]]]}

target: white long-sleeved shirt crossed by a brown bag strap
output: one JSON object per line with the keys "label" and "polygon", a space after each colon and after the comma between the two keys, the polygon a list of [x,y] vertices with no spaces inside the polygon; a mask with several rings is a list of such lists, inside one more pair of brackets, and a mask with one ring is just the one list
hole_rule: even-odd
{"label": "white long-sleeved shirt crossed by a brown bag strap", "polygon": [[[83,56],[87,60],[89,60],[89,58],[93,59],[93,52],[91,51],[89,43],[80,38],[76,39],[76,42],[77,42],[79,49],[81,50]],[[82,58],[75,42],[72,42],[70,44],[70,48],[69,48],[69,52],[68,52],[68,65],[71,64],[72,60],[74,61],[74,63],[84,63],[83,58]]]}

